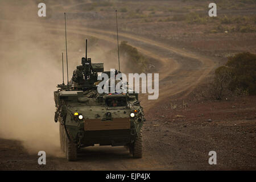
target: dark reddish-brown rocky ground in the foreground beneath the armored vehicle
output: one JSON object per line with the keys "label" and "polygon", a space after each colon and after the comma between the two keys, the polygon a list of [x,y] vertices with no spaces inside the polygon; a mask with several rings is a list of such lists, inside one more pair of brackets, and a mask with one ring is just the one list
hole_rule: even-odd
{"label": "dark reddish-brown rocky ground in the foreground beneath the armored vehicle", "polygon": [[[64,157],[28,154],[22,143],[1,139],[2,170],[255,170],[255,97],[156,106],[143,127],[143,159],[133,159],[123,147],[88,147],[78,162]],[[156,113],[156,114],[155,114]],[[216,151],[217,165],[209,165]]]}

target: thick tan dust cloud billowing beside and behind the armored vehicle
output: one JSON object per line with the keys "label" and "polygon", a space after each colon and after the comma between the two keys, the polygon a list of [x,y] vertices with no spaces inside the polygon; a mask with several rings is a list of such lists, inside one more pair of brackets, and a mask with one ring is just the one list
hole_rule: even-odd
{"label": "thick tan dust cloud billowing beside and behind the armored vehicle", "polygon": [[[36,1],[0,2],[0,137],[21,140],[31,154],[43,150],[63,156],[59,147],[59,124],[54,122],[53,92],[56,85],[62,83],[64,17],[39,18],[37,5]],[[64,11],[62,7],[57,13],[63,16]],[[51,28],[47,28],[49,24]],[[72,33],[69,27],[67,19],[69,80],[84,57],[85,38],[88,57],[92,57],[93,63],[104,63],[105,70],[118,68],[117,55],[109,54],[116,45],[86,36],[86,32]],[[106,58],[108,60],[103,61]],[[64,75],[67,82],[66,69]]]}

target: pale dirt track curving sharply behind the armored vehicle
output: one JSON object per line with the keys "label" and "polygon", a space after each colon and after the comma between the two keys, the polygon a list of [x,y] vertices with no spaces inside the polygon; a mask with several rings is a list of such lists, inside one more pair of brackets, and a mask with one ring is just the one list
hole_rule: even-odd
{"label": "pale dirt track curving sharply behind the armored vehicle", "polygon": [[[31,28],[42,26],[38,23],[16,23],[17,26],[29,26]],[[64,32],[63,26],[53,26],[45,23],[43,27],[47,30]],[[69,34],[80,34],[94,36],[97,39],[116,44],[116,32],[98,30],[96,28],[85,28],[69,26]],[[127,40],[129,44],[138,49],[144,55],[159,61],[162,67],[159,68],[159,98],[154,101],[146,101],[142,96],[143,102],[146,103],[146,109],[163,101],[166,97],[172,97],[183,93],[181,97],[186,96],[196,87],[199,82],[208,75],[214,68],[213,60],[206,56],[193,53],[191,51],[175,48],[155,40],[143,38],[137,35],[119,32],[120,40]],[[158,64],[158,63],[156,63]],[[177,99],[177,97],[175,98]]]}

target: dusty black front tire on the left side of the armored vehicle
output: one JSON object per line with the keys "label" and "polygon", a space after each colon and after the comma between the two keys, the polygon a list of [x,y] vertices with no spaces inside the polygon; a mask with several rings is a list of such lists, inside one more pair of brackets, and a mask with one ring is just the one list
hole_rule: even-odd
{"label": "dusty black front tire on the left side of the armored vehicle", "polygon": [[65,152],[66,158],[68,161],[75,161],[77,159],[77,146],[74,142],[68,139],[67,134],[65,133]]}

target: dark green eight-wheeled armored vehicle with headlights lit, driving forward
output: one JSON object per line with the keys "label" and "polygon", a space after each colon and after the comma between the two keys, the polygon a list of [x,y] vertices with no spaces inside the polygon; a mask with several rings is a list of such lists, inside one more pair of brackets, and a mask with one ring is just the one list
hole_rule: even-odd
{"label": "dark green eight-wheeled armored vehicle with headlights lit, driving forward", "polygon": [[79,82],[74,72],[73,81],[65,85],[63,80],[54,92],[55,122],[59,122],[60,146],[68,161],[77,159],[79,148],[94,144],[125,146],[134,158],[142,158],[145,119],[138,93],[98,93],[94,83],[98,72],[104,73],[104,64],[91,63],[87,51],[79,69]]}

